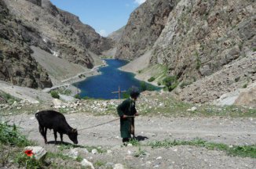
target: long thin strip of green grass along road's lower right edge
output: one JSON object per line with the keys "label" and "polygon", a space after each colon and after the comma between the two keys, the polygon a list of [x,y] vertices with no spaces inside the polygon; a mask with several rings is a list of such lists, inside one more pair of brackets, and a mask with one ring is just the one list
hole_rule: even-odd
{"label": "long thin strip of green grass along road's lower right edge", "polygon": [[154,141],[148,142],[146,146],[152,146],[152,148],[159,147],[173,147],[173,146],[198,146],[206,149],[224,151],[229,156],[241,156],[256,158],[256,145],[252,146],[228,146],[222,143],[207,142],[201,138],[196,138],[191,141],[170,141],[164,140],[163,142]]}

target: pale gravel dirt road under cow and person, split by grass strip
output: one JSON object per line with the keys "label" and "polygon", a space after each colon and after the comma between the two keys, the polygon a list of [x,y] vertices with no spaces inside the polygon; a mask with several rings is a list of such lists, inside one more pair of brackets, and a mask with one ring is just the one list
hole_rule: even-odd
{"label": "pale gravel dirt road under cow and person, split by grass strip", "polygon": [[[116,117],[93,117],[83,113],[66,114],[71,127],[87,128],[101,124]],[[17,121],[28,138],[36,140],[46,149],[54,145],[45,145],[38,132],[38,122],[34,115],[18,115],[8,118],[10,123]],[[220,142],[227,145],[253,145],[256,142],[256,120],[254,118],[219,118],[219,117],[137,117],[136,133],[138,138],[146,138],[141,142],[153,140],[190,140],[203,138],[209,142]],[[110,149],[105,155],[86,155],[92,162],[102,160],[124,164],[127,168],[254,168],[256,160],[237,156],[227,156],[224,152],[209,150],[195,146],[174,146],[171,148],[142,148],[147,152],[144,156],[135,157],[138,147],[120,147],[119,120],[104,124],[97,128],[79,131],[79,145],[101,146]],[[53,141],[53,131],[48,132],[48,141]],[[58,138],[60,139],[60,138]],[[64,136],[65,142],[71,142]]]}

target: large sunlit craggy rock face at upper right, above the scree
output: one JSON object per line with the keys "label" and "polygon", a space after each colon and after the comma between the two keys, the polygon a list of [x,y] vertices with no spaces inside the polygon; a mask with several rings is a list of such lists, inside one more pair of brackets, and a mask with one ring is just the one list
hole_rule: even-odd
{"label": "large sunlit craggy rock face at upper right, above the scree", "polygon": [[255,46],[255,2],[181,0],[155,42],[152,63],[181,80],[209,76]]}

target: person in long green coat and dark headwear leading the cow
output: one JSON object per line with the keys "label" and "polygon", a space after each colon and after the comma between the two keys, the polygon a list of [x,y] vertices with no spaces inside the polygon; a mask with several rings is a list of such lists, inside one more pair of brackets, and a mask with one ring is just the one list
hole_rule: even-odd
{"label": "person in long green coat and dark headwear leading the cow", "polygon": [[134,117],[138,116],[137,110],[135,108],[135,102],[137,97],[140,95],[136,89],[130,92],[130,98],[124,100],[118,107],[117,112],[120,117],[120,131],[121,137],[123,138],[123,143],[130,141],[130,134],[134,136]]}

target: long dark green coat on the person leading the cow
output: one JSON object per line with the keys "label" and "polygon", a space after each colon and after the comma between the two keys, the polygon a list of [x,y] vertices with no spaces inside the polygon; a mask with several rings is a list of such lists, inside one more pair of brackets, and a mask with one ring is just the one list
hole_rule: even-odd
{"label": "long dark green coat on the person leading the cow", "polygon": [[122,138],[130,138],[131,125],[134,125],[134,117],[127,117],[123,119],[123,115],[134,116],[137,113],[135,102],[132,99],[124,100],[118,107],[117,112],[120,118],[120,131]]}

